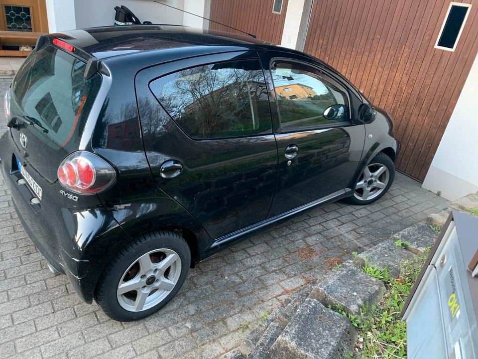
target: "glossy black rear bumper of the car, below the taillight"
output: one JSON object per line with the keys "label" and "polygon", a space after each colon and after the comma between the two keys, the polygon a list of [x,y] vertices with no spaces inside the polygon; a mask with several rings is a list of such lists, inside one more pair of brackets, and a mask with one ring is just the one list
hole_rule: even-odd
{"label": "glossy black rear bumper of the car, below the taillight", "polygon": [[88,207],[65,206],[69,202],[58,195],[58,183],[40,182],[42,202],[31,204],[33,192],[18,183],[22,178],[18,171],[12,172],[12,155],[19,156],[15,152],[7,132],[0,138],[0,167],[21,224],[45,259],[68,276],[83,301],[91,303],[121,227],[97,196],[87,198]]}

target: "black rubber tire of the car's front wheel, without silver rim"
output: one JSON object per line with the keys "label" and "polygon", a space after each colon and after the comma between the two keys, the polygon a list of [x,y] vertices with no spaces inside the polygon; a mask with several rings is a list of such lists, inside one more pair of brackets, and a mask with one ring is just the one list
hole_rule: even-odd
{"label": "black rubber tire of the car's front wheel, without silver rim", "polygon": [[[359,198],[361,196],[362,197],[364,196],[365,188],[363,189],[359,188],[359,185],[364,184],[363,180],[365,176],[365,173],[364,173],[365,169],[370,169],[370,168],[373,169],[375,165],[377,165],[376,168],[379,168],[378,165],[385,166],[388,172],[386,185],[384,188],[376,188],[377,190],[379,189],[380,191],[379,192],[377,191],[372,196],[371,193],[372,193],[372,190],[374,189],[373,185],[377,183],[377,182],[374,182],[371,184],[372,189],[370,190],[370,198],[367,198],[367,199]],[[383,175],[380,175],[380,176],[383,176]],[[369,164],[365,168],[363,168],[362,172],[359,175],[359,179],[357,179],[358,183],[356,184],[356,187],[354,188],[354,192],[351,197],[347,198],[347,201],[351,204],[359,204],[359,205],[373,203],[376,200],[380,199],[388,191],[388,189],[393,183],[393,179],[395,179],[395,166],[393,165],[393,161],[390,159],[390,157],[380,152],[369,162]],[[382,182],[378,182],[378,183],[382,183]]]}

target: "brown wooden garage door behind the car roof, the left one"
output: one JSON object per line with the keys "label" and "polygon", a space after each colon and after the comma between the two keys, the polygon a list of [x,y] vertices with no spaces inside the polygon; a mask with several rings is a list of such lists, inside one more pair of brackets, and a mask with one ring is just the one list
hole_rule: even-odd
{"label": "brown wooden garage door behind the car roof, the left one", "polygon": [[[273,0],[211,0],[210,18],[239,30],[253,33],[258,39],[280,44],[284,29],[287,0],[280,14],[272,12]],[[229,27],[210,22],[209,28],[241,33]]]}

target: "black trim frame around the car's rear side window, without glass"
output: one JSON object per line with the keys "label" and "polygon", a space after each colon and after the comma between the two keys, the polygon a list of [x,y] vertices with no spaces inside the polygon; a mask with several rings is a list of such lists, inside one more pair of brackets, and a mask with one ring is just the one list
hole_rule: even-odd
{"label": "black trim frame around the car's rear side window, without glass", "polygon": [[[212,55],[205,55],[207,57],[209,56],[214,56],[215,54],[212,54]],[[198,56],[199,57],[199,56]],[[188,60],[187,58],[186,59],[181,59],[180,61],[185,61],[185,60]],[[251,138],[251,137],[260,137],[260,136],[270,136],[270,135],[273,135],[274,134],[274,129],[273,129],[273,124],[272,124],[272,113],[270,111],[270,107],[269,107],[269,121],[270,121],[270,131],[268,131],[267,133],[257,133],[257,134],[249,134],[249,135],[241,135],[241,136],[229,136],[229,137],[212,137],[212,138],[205,138],[205,139],[200,139],[200,138],[195,138],[193,136],[191,136],[190,134],[188,134],[177,122],[176,120],[171,116],[171,114],[169,113],[169,111],[163,106],[163,104],[161,103],[161,101],[159,101],[159,99],[156,97],[156,95],[154,94],[154,92],[152,91],[151,89],[151,83],[156,81],[156,80],[159,80],[163,77],[166,77],[166,76],[169,76],[169,75],[172,75],[172,74],[175,74],[177,72],[180,72],[180,71],[183,71],[183,70],[188,70],[188,69],[191,69],[191,68],[195,68],[195,67],[200,67],[200,66],[207,66],[207,65],[213,65],[213,64],[219,64],[219,63],[225,63],[225,62],[234,62],[234,61],[243,61],[243,60],[257,60],[260,64],[260,69],[262,71],[262,76],[264,78],[264,84],[267,88],[267,80],[266,80],[266,76],[265,76],[265,72],[264,72],[264,67],[262,66],[262,62],[260,61],[260,58],[259,57],[254,57],[254,56],[246,56],[244,58],[239,58],[239,59],[235,59],[235,58],[231,58],[231,59],[224,59],[224,60],[220,60],[220,61],[214,61],[214,60],[211,60],[211,61],[206,61],[206,62],[201,62],[201,63],[198,63],[198,64],[195,64],[195,65],[190,65],[190,66],[186,66],[186,67],[177,67],[176,69],[172,70],[172,71],[166,71],[164,74],[160,75],[160,76],[155,76],[149,80],[146,81],[146,87],[148,89],[148,91],[151,93],[151,95],[153,96],[153,98],[156,100],[156,102],[159,104],[159,106],[161,106],[161,108],[164,110],[164,112],[168,115],[168,117],[170,118],[170,120],[178,127],[178,129],[186,136],[188,137],[189,139],[193,140],[193,141],[220,141],[220,140],[230,140],[230,139],[241,139],[241,138]],[[269,93],[267,92],[267,97],[268,97],[268,102],[270,103],[270,95]]]}

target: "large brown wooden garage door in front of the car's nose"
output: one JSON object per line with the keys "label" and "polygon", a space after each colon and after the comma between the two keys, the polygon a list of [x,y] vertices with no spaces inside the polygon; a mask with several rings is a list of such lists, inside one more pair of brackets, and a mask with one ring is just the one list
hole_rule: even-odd
{"label": "large brown wooden garage door in front of the car's nose", "polygon": [[450,1],[316,0],[312,7],[304,51],[390,114],[401,143],[396,165],[420,180],[478,51],[478,0],[463,2],[473,5],[454,52],[434,48]]}

